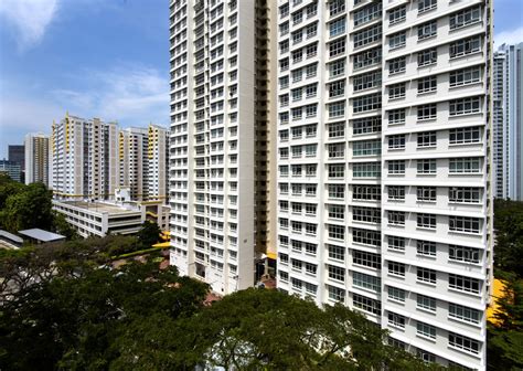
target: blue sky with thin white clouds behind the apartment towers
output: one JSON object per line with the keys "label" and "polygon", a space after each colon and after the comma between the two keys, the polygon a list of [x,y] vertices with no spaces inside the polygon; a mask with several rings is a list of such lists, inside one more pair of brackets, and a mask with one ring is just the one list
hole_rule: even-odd
{"label": "blue sky with thin white clouds behind the apartment towers", "polygon": [[[523,0],[494,0],[494,40],[523,41]],[[0,159],[66,112],[169,126],[168,0],[0,0]]]}

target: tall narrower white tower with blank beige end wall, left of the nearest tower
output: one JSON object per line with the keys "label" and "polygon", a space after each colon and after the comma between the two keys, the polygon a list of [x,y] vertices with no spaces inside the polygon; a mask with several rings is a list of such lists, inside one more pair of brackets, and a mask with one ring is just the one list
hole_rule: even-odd
{"label": "tall narrower white tower with blank beige end wall, left of the nearest tower", "polygon": [[253,286],[274,243],[274,4],[170,2],[171,264],[223,294]]}

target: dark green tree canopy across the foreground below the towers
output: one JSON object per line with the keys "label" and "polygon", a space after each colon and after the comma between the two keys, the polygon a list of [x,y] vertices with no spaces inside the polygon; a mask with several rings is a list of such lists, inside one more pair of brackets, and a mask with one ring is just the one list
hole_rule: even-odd
{"label": "dark green tree canopy across the foreground below the towers", "polygon": [[115,268],[110,243],[0,254],[0,369],[441,369],[341,305],[253,288],[205,306],[209,286],[159,269],[154,255]]}

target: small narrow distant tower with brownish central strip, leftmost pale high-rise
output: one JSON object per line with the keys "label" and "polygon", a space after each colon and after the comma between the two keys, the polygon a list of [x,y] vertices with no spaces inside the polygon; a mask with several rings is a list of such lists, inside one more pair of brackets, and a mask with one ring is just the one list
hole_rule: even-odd
{"label": "small narrow distant tower with brownish central strip, leftmost pale high-rise", "polygon": [[49,186],[49,135],[28,134],[22,147],[25,147],[25,184],[42,182]]}

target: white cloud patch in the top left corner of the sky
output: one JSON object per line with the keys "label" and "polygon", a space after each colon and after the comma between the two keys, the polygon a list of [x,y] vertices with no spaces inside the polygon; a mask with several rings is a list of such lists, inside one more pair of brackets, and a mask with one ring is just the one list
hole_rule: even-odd
{"label": "white cloud patch in the top left corner of the sky", "polygon": [[42,40],[57,8],[58,0],[1,0],[0,17],[14,28],[24,50]]}

